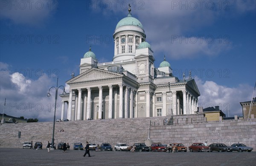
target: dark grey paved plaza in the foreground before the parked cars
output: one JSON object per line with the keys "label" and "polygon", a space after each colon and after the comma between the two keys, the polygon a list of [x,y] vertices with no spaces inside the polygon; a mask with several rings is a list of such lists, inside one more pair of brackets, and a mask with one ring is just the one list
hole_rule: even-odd
{"label": "dark grey paved plaza in the foreground before the parked cars", "polygon": [[0,166],[255,166],[256,152],[116,152],[0,149]]}

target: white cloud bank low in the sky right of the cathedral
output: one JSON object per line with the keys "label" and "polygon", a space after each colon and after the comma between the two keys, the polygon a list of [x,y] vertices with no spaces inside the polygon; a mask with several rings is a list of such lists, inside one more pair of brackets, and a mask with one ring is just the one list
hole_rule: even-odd
{"label": "white cloud bank low in the sky right of the cathedral", "polygon": [[242,107],[240,102],[251,100],[253,87],[247,84],[240,84],[237,87],[227,87],[218,85],[213,81],[203,82],[195,77],[198,89],[201,93],[198,106],[203,108],[220,106],[220,109],[226,116],[242,116]]}

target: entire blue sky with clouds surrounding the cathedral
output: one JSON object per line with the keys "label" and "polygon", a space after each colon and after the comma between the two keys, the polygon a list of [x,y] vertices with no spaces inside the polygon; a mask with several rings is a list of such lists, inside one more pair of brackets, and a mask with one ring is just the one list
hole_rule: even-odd
{"label": "entire blue sky with clouds surrounding the cathedral", "polygon": [[239,102],[251,100],[256,81],[255,0],[1,0],[1,113],[51,121],[54,97],[46,94],[56,76],[65,86],[72,72],[77,75],[89,45],[99,63],[112,61],[113,32],[128,3],[156,67],[166,55],[176,77],[192,71],[203,108],[218,105],[225,114],[242,115]]}

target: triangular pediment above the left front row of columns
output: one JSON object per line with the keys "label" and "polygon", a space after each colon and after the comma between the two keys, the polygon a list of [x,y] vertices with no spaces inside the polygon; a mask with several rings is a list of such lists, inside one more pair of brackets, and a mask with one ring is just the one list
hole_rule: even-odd
{"label": "triangular pediment above the left front row of columns", "polygon": [[102,70],[98,68],[91,68],[78,76],[68,80],[67,84],[73,84],[73,83],[85,83],[85,82],[91,82],[91,81],[104,81],[108,79],[113,78],[121,78],[123,77],[123,74],[110,72],[107,70]]}

